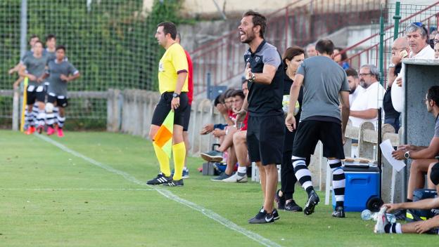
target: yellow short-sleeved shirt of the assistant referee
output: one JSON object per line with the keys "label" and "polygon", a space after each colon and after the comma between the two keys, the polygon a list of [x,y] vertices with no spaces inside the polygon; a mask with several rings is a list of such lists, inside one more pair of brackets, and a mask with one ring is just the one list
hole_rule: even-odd
{"label": "yellow short-sleeved shirt of the assistant referee", "polygon": [[[177,74],[179,72],[189,72],[186,53],[177,43],[172,44],[158,63],[158,91],[160,94],[174,92],[177,86]],[[182,92],[188,92],[188,77],[182,88]]]}

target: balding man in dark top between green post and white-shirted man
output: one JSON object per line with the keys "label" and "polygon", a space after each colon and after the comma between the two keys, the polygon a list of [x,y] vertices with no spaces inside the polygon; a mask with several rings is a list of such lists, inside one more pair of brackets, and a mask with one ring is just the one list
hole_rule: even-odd
{"label": "balding man in dark top between green post and white-shirted man", "polygon": [[399,37],[393,41],[391,64],[388,69],[387,90],[384,93],[383,109],[384,123],[389,123],[395,128],[397,133],[400,129],[400,112],[397,112],[392,105],[392,85],[402,69],[402,59],[407,57],[409,53],[409,43],[405,37]]}

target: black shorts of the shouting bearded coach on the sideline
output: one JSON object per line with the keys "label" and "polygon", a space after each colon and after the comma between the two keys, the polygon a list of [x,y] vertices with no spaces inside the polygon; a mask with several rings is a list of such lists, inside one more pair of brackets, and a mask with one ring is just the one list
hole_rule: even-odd
{"label": "black shorts of the shouting bearded coach on the sideline", "polygon": [[248,116],[247,146],[250,161],[262,165],[282,163],[284,116]]}

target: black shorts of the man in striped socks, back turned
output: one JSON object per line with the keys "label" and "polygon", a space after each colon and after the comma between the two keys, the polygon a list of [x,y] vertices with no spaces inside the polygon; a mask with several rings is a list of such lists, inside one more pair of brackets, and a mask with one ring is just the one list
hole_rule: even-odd
{"label": "black shorts of the man in striped socks, back turned", "polygon": [[295,132],[293,156],[307,157],[314,154],[319,140],[323,143],[323,156],[345,159],[341,123],[317,120],[305,120],[299,123]]}

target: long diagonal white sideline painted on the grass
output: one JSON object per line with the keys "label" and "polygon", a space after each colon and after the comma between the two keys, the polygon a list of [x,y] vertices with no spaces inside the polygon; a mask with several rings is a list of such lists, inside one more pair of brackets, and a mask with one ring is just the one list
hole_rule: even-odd
{"label": "long diagonal white sideline painted on the grass", "polygon": [[199,206],[196,203],[193,203],[191,201],[187,201],[185,199],[180,198],[179,196],[173,194],[167,189],[158,188],[152,185],[146,185],[145,182],[142,182],[141,180],[138,180],[134,178],[132,175],[129,175],[128,173],[125,173],[124,171],[117,170],[111,166],[107,166],[106,164],[100,163],[98,161],[95,161],[94,159],[91,159],[87,156],[84,156],[83,154],[80,154],[68,147],[65,147],[59,142],[56,142],[55,140],[52,140],[51,138],[47,138],[44,135],[37,135],[38,138],[41,138],[42,140],[51,143],[52,145],[55,145],[56,147],[59,147],[65,152],[68,152],[69,154],[72,154],[74,156],[77,156],[81,159],[84,159],[85,161],[88,161],[89,163],[94,164],[95,166],[98,166],[100,168],[105,169],[106,171],[109,171],[110,173],[115,173],[117,175],[121,175],[126,180],[129,180],[130,182],[134,182],[137,185],[144,185],[148,186],[151,189],[154,189],[158,193],[162,194],[168,199],[172,199],[173,201],[177,201],[178,203],[183,204],[184,206],[187,206],[189,208],[192,208],[195,211],[198,211],[200,213],[203,213],[203,215],[206,215],[208,218],[211,218],[212,220],[215,220],[216,222],[219,222],[221,225],[224,225],[225,227],[231,229],[232,231],[239,232],[245,236],[247,236],[249,239],[253,239],[257,243],[260,243],[263,246],[280,246],[278,243],[274,243],[273,241],[266,239],[263,236],[260,236],[259,234],[256,234],[255,232],[251,232],[248,229],[245,229],[243,227],[240,227],[236,225],[234,222],[231,222],[230,220],[227,220],[226,218],[222,217],[221,215],[215,213],[214,211],[211,211],[210,209],[203,208],[202,206]]}

